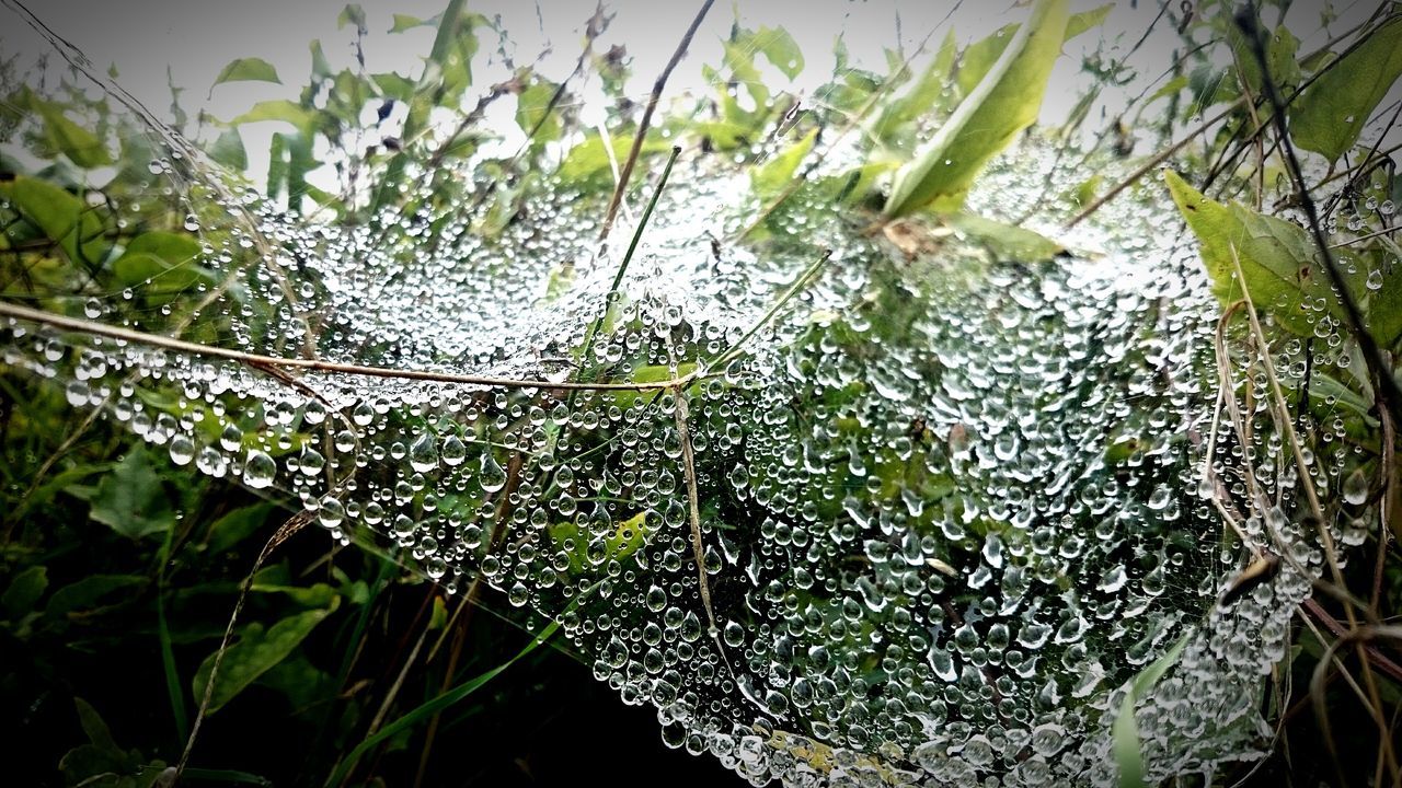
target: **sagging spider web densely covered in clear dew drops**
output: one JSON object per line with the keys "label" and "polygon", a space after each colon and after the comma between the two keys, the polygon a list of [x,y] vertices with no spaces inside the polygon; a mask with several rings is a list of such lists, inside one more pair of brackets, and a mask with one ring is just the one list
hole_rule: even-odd
{"label": "sagging spider web densely covered in clear dew drops", "polygon": [[[610,189],[548,172],[496,234],[465,198],[348,227],[122,112],[193,258],[6,300],[4,365],[558,621],[669,745],[757,785],[1113,784],[1115,719],[1165,655],[1129,704],[1150,778],[1269,743],[1262,679],[1322,557],[1265,381],[1249,429],[1224,415],[1221,306],[1157,184],[1066,230],[1047,195],[1080,153],[1029,135],[969,198],[1066,250],[1016,259],[806,192],[743,236],[749,175],[688,150],[611,292],[660,158],[603,243]],[[1223,606],[1238,509],[1291,554]]]}

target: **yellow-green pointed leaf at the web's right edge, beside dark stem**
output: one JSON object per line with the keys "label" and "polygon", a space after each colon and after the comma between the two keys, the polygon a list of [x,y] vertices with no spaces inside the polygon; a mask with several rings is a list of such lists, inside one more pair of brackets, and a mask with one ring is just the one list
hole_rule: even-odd
{"label": "yellow-green pointed leaf at the web's right edge, beside dark stem", "polygon": [[1213,293],[1223,304],[1242,297],[1234,273],[1235,250],[1252,303],[1290,332],[1312,335],[1312,314],[1321,304],[1323,311],[1346,320],[1328,272],[1316,261],[1314,243],[1302,227],[1238,203],[1213,202],[1172,170],[1164,171],[1164,179],[1187,227],[1197,236]]}

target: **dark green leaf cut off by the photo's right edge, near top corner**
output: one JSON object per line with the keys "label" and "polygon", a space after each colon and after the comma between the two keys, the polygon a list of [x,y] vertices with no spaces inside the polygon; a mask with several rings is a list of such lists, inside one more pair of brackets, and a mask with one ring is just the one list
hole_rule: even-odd
{"label": "dark green leaf cut off by the photo's right edge, near top corner", "polygon": [[1402,74],[1402,18],[1378,25],[1290,105],[1290,139],[1338,161]]}

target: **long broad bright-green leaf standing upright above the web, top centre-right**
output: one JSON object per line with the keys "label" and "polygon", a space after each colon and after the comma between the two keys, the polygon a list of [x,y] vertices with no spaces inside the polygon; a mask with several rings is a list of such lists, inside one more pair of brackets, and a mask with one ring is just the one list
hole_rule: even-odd
{"label": "long broad bright-green leaf standing upright above the web, top centre-right", "polygon": [[953,115],[896,172],[887,217],[925,206],[955,210],[983,167],[1032,125],[1061,53],[1068,0],[1037,0],[988,74]]}

